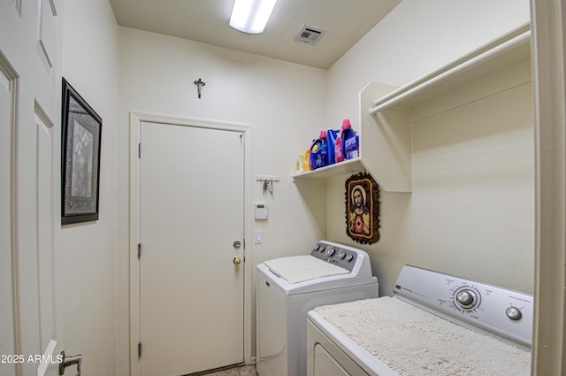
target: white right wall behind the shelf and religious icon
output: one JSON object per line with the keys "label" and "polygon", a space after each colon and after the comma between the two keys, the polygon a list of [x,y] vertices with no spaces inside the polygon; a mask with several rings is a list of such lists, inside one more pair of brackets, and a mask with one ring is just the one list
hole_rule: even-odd
{"label": "white right wall behind the shelf and religious icon", "polygon": [[[368,82],[402,86],[529,17],[526,0],[404,0],[329,70],[328,124],[349,118],[356,125],[358,92]],[[529,93],[523,100],[530,104]],[[471,124],[463,138],[434,122],[414,127],[413,193],[381,191],[381,239],[361,247],[371,255],[380,294],[392,295],[403,264],[532,293],[532,112],[520,115],[514,129],[479,127],[474,134]],[[474,161],[478,150],[486,153]],[[328,185],[327,236],[353,243],[344,228],[344,180]]]}

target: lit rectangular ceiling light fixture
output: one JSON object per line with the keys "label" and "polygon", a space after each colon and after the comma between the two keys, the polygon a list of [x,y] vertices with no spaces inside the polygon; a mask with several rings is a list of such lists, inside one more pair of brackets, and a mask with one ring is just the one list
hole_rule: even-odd
{"label": "lit rectangular ceiling light fixture", "polygon": [[248,34],[264,32],[277,0],[235,0],[230,26]]}

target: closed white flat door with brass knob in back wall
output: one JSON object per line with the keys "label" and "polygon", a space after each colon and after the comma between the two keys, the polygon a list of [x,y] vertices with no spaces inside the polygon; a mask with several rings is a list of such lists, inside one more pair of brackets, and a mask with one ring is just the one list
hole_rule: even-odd
{"label": "closed white flat door with brass knob in back wall", "polygon": [[244,134],[142,122],[140,140],[141,374],[241,364]]}

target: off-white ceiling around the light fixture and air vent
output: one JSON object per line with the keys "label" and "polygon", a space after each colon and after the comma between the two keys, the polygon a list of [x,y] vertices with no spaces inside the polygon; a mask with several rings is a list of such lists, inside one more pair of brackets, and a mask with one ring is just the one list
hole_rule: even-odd
{"label": "off-white ceiling around the light fixture and air vent", "polygon": [[[401,0],[279,0],[264,34],[228,26],[233,0],[110,0],[120,26],[327,69]],[[326,34],[294,42],[303,24]]]}

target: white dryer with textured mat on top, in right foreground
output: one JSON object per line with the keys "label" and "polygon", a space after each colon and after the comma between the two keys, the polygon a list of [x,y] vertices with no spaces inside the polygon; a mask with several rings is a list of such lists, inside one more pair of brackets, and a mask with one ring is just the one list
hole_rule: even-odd
{"label": "white dryer with textured mat on top, in right foreground", "polygon": [[531,375],[532,295],[405,265],[394,297],[308,313],[308,376]]}

